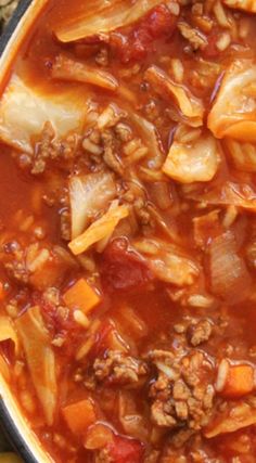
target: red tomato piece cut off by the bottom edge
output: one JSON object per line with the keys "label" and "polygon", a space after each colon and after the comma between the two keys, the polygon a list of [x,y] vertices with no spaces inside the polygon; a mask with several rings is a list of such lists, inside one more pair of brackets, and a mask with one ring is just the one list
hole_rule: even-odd
{"label": "red tomato piece cut off by the bottom edge", "polygon": [[107,445],[113,463],[140,463],[143,461],[143,445],[136,439],[115,436]]}

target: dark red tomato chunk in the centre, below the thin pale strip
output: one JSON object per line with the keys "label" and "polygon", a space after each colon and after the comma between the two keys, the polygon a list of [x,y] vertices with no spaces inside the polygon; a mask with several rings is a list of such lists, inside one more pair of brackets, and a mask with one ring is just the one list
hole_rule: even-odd
{"label": "dark red tomato chunk in the centre, below the thin pale strip", "polygon": [[113,240],[103,254],[101,266],[103,286],[108,291],[131,291],[153,280],[146,261],[129,248],[125,237]]}

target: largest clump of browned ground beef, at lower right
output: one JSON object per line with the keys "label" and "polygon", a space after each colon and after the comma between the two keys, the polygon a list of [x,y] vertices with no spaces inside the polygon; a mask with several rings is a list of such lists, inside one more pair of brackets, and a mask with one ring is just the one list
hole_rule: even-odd
{"label": "largest clump of browned ground beef, at lower right", "polygon": [[149,359],[157,369],[150,387],[153,423],[172,429],[205,426],[215,395],[213,363],[206,355],[196,349],[179,355],[152,350]]}

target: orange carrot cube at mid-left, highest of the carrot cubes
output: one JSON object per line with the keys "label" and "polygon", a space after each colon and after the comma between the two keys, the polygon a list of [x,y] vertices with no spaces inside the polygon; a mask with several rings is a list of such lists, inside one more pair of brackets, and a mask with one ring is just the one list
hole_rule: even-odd
{"label": "orange carrot cube at mid-left, highest of the carrot cubes", "polygon": [[63,295],[64,303],[71,309],[80,309],[88,313],[95,307],[101,298],[85,279],[78,280]]}

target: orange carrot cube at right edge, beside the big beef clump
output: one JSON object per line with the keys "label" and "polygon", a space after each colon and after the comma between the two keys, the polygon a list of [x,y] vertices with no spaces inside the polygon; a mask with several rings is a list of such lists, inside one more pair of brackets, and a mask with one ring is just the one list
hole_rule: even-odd
{"label": "orange carrot cube at right edge, beside the big beef clump", "polygon": [[222,395],[239,398],[254,389],[254,369],[251,365],[230,365]]}

